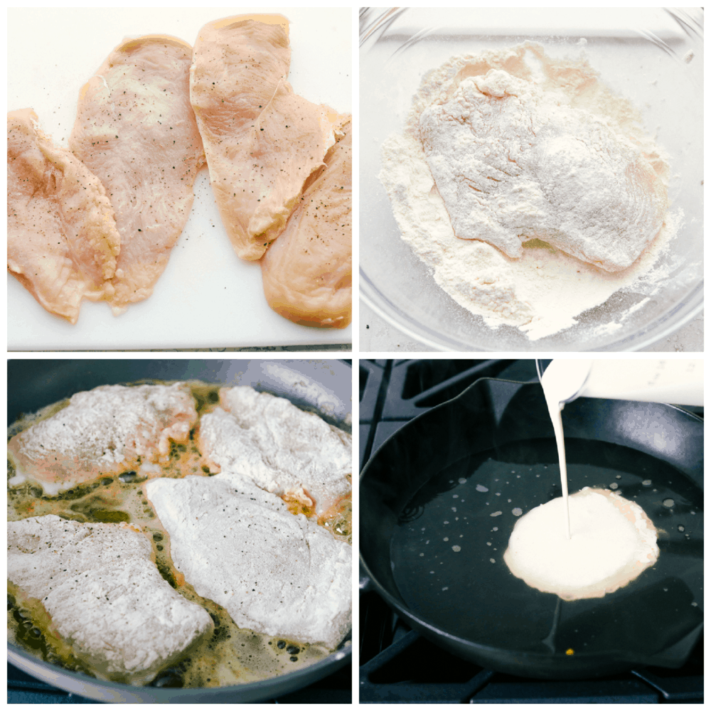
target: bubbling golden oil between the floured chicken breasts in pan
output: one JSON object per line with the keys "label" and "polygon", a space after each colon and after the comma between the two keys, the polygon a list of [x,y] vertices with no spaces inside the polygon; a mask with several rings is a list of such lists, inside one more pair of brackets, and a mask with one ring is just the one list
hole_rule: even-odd
{"label": "bubbling golden oil between the floured chicken breasts in pan", "polygon": [[[141,381],[142,385],[170,383]],[[191,382],[198,415],[218,406],[219,385]],[[24,415],[8,428],[8,439],[32,424],[55,415],[68,405],[69,400],[56,402],[32,414]],[[171,442],[170,458],[160,466],[156,476],[181,479],[184,476],[212,476],[208,464],[198,448],[199,420],[190,432],[187,444]],[[151,472],[152,474],[153,472]],[[15,475],[8,461],[8,480]],[[350,479],[350,478],[349,478]],[[148,477],[139,471],[100,476],[62,491],[58,496],[46,496],[36,484],[27,481],[21,486],[8,487],[9,521],[32,516],[55,514],[65,520],[80,523],[119,523],[125,521],[139,528],[153,547],[153,558],[161,576],[183,597],[208,611],[213,619],[213,634],[169,668],[161,670],[151,682],[160,687],[217,687],[250,683],[274,678],[277,675],[304,668],[326,658],[330,651],[320,645],[304,644],[281,637],[271,637],[248,629],[240,629],[223,606],[198,595],[173,565],[170,536],[145,496],[143,484]],[[289,510],[303,513],[317,520],[333,538],[352,542],[352,501],[349,495],[324,515],[316,518],[313,508],[294,501],[285,501]],[[66,670],[80,671],[95,676],[95,671],[77,659],[72,648],[53,630],[50,616],[41,602],[32,599],[8,581],[8,639],[11,643],[45,661]],[[350,644],[350,641],[346,642]],[[122,681],[123,679],[113,679]]]}

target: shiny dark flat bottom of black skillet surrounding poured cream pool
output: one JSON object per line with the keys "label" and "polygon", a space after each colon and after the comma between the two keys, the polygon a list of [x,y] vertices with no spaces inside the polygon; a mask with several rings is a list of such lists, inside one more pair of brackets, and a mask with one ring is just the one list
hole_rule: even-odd
{"label": "shiny dark flat bottom of black skillet surrounding poured cream pool", "polygon": [[417,618],[475,646],[536,655],[648,658],[702,623],[703,496],[650,454],[566,439],[571,493],[608,488],[658,530],[659,559],[626,587],[564,602],[511,574],[503,552],[518,516],[561,496],[555,441],[474,452],[434,474],[400,512],[392,576]]}

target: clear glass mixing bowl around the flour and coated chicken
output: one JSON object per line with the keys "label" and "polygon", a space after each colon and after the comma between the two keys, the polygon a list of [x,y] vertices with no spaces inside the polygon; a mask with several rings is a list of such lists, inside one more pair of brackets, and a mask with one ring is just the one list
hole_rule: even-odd
{"label": "clear glass mixing bowl around the flour and coated chicken", "polygon": [[[451,56],[531,40],[548,55],[577,56],[634,102],[670,156],[670,209],[683,210],[671,240],[682,265],[624,318],[634,294],[613,294],[554,336],[531,341],[493,329],[451,299],[400,239],[378,179],[380,147],[402,132],[422,77]],[[412,338],[444,351],[636,351],[668,336],[703,307],[703,11],[695,9],[422,9],[360,11],[360,296]],[[636,301],[641,301],[637,297]],[[601,335],[591,328],[621,324]],[[594,331],[597,330],[597,334]]]}

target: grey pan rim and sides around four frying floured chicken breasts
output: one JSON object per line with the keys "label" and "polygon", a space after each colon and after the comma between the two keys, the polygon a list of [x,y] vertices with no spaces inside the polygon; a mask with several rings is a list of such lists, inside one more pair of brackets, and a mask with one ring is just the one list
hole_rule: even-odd
{"label": "grey pan rim and sides around four frying floured chicken breasts", "polygon": [[[80,390],[137,380],[205,380],[252,385],[287,397],[351,431],[351,366],[338,360],[9,360],[8,422]],[[351,663],[351,637],[327,658],[292,673],[249,684],[181,689],[134,687],[64,670],[8,644],[8,661],[72,693],[118,703],[252,702],[304,688]]]}

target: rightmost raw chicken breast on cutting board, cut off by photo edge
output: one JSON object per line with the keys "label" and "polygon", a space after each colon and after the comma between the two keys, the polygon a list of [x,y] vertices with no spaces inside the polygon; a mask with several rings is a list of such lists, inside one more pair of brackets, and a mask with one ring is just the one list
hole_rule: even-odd
{"label": "rightmost raw chicken breast on cutting board, cut off by photo edge", "polygon": [[351,120],[311,174],[287,227],[262,257],[264,296],[290,321],[351,323]]}

